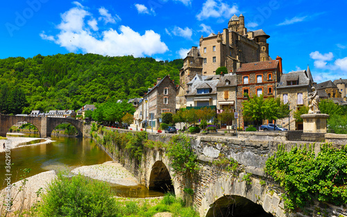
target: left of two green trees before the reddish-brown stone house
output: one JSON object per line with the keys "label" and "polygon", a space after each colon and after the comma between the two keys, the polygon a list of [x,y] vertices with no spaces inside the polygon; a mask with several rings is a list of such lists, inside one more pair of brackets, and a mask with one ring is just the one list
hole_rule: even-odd
{"label": "left of two green trees before the reddish-brown stone house", "polygon": [[242,102],[244,107],[243,115],[250,121],[257,121],[257,129],[259,129],[259,122],[266,119],[264,111],[264,96],[263,94],[257,96],[253,95],[253,98],[247,95],[247,101]]}

